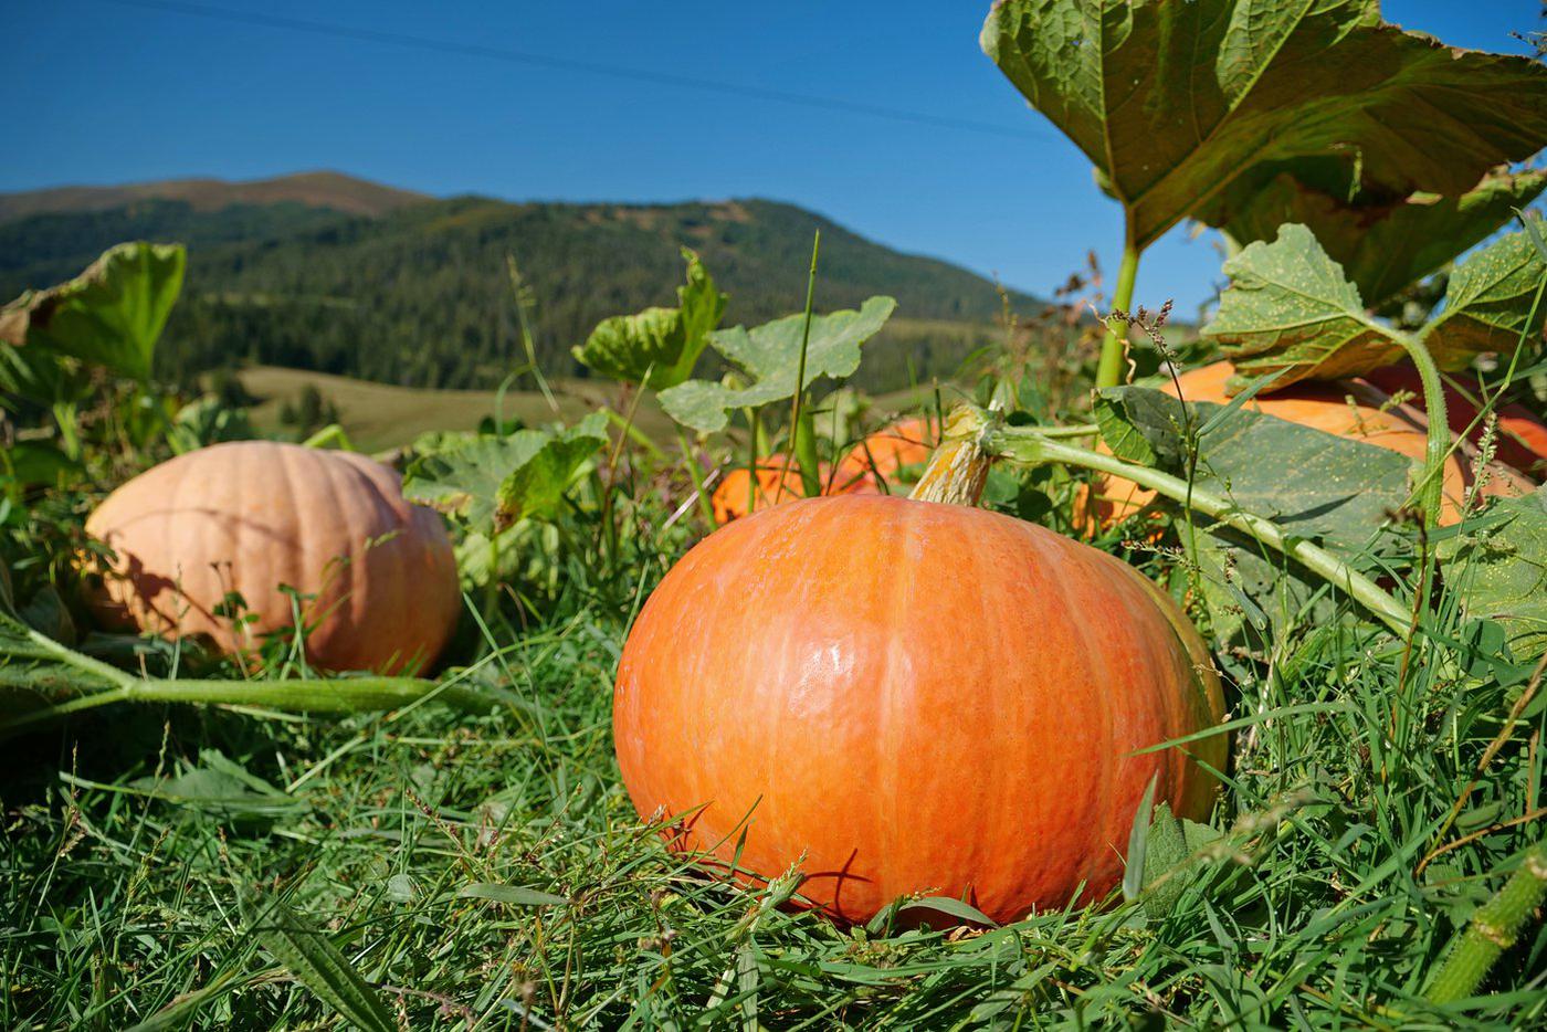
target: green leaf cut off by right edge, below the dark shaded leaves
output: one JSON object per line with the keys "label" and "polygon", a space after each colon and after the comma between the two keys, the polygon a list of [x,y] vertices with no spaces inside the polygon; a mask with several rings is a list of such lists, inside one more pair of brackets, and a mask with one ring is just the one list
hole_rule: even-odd
{"label": "green leaf cut off by right edge, below the dark shaded leaves", "polygon": [[1524,232],[1462,261],[1451,272],[1445,306],[1422,331],[1434,359],[1457,367],[1484,351],[1513,351],[1522,334],[1541,333],[1547,306],[1538,306],[1533,319],[1532,297],[1544,275],[1547,260]]}

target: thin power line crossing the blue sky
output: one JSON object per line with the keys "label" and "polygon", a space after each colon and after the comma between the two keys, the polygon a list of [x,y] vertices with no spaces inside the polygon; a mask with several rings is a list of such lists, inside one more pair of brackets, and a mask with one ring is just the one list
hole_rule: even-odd
{"label": "thin power line crossing the blue sky", "polygon": [[552,57],[549,54],[534,54],[529,51],[506,50],[501,46],[484,46],[481,43],[461,43],[456,40],[430,39],[425,36],[410,36],[405,32],[385,32],[379,29],[354,28],[350,25],[337,25],[330,22],[311,22],[303,19],[283,17],[277,14],[231,11],[227,8],[210,8],[198,3],[178,3],[178,0],[99,0],[99,3],[114,3],[118,6],[144,8],[169,14],[186,14],[201,19],[212,19],[217,22],[237,22],[243,25],[258,25],[263,28],[289,29],[295,32],[312,32],[314,36],[331,36],[336,39],[353,39],[368,43],[391,43],[398,46],[412,46],[415,50],[432,50],[447,54],[486,57],[489,60],[504,60],[518,65],[554,68],[557,71],[575,71],[593,76],[606,76],[611,79],[628,79],[633,82],[653,82],[657,85],[678,87],[682,90],[721,93],[726,96],[738,96],[752,101],[772,101],[775,104],[792,104],[797,107],[817,108],[823,111],[840,111],[845,114],[885,118],[896,122],[911,122],[914,125],[931,125],[936,128],[956,128],[972,133],[987,133],[992,136],[1002,136],[1009,139],[1021,139],[1021,141],[1047,139],[1044,135],[1016,130],[1007,125],[996,125],[993,122],[978,122],[973,119],[950,118],[944,114],[925,114],[922,111],[908,111],[903,108],[883,107],[877,104],[860,104],[855,101],[843,101],[838,97],[821,97],[809,93],[791,93],[786,90],[767,90],[763,87],[747,87],[733,82],[718,82],[713,79],[678,76],[665,71],[651,71],[648,68],[623,68],[616,65],[602,65],[588,60],[574,60],[571,57]]}

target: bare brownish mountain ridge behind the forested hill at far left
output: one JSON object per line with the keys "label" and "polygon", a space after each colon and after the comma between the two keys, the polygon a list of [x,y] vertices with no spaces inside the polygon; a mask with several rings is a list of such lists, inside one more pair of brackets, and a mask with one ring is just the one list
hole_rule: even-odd
{"label": "bare brownish mountain ridge behind the forested hill at far left", "polygon": [[102,212],[135,201],[187,201],[196,212],[218,212],[232,204],[328,207],[351,215],[385,215],[405,204],[430,200],[342,172],[297,172],[274,179],[161,179],[125,186],[59,186],[46,190],[0,193],[0,223],[48,212]]}

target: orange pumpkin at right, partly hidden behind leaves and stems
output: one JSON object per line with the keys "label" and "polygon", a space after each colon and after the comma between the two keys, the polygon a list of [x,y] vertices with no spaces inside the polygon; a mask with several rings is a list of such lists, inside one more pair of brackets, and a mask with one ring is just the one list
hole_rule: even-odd
{"label": "orange pumpkin at right, partly hidden behind leaves and stems", "polygon": [[[1228,362],[1214,362],[1182,373],[1177,381],[1187,401],[1211,401],[1227,404],[1225,381],[1235,374]],[[1168,382],[1162,390],[1173,398],[1177,385]],[[1352,404],[1349,399],[1354,399]],[[1422,410],[1412,405],[1381,408],[1391,398],[1363,381],[1310,382],[1301,381],[1272,395],[1258,395],[1245,402],[1252,412],[1298,422],[1324,433],[1375,444],[1406,455],[1422,464],[1428,449],[1428,430]],[[1451,453],[1445,463],[1440,525],[1450,526],[1462,518],[1467,490],[1474,481],[1471,456],[1462,450]],[[1098,498],[1094,514],[1108,526],[1131,512],[1149,504],[1154,494],[1120,478],[1103,478],[1098,483]],[[1513,497],[1532,489],[1530,481],[1516,470],[1494,463],[1482,487],[1484,497]]]}

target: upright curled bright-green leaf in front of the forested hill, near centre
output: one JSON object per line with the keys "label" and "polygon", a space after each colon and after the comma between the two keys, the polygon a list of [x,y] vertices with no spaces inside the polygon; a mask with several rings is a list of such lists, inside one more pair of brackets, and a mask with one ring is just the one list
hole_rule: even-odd
{"label": "upright curled bright-green leaf in front of the forested hill, near centre", "polygon": [[727,296],[693,251],[684,248],[682,257],[687,283],[678,288],[676,308],[603,319],[574,356],[603,376],[656,390],[685,381],[726,314]]}

